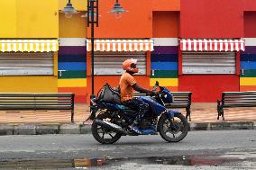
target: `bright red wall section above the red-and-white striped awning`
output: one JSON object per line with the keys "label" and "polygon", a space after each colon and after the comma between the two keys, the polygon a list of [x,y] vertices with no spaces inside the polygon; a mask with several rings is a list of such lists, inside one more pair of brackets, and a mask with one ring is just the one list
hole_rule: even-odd
{"label": "bright red wall section above the red-and-white striped awning", "polygon": [[182,0],[180,3],[182,38],[243,37],[242,1]]}

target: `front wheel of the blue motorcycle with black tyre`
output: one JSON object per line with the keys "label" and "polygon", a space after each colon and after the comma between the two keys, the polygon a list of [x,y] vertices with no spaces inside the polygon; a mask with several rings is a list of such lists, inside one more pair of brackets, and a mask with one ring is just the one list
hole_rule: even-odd
{"label": "front wheel of the blue motorcycle with black tyre", "polygon": [[185,116],[175,114],[171,119],[168,114],[162,114],[158,122],[158,130],[162,139],[168,142],[178,142],[187,136],[188,123]]}

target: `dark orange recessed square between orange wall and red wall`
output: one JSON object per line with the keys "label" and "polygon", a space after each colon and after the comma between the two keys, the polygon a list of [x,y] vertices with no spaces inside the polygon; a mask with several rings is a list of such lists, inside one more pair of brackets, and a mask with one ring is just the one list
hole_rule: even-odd
{"label": "dark orange recessed square between orange wall and red wall", "polygon": [[153,12],[153,37],[177,38],[179,12]]}

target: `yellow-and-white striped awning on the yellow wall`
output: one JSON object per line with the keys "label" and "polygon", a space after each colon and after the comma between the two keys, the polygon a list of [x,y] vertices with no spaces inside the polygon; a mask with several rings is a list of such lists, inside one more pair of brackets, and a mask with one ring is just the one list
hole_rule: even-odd
{"label": "yellow-and-white striped awning on the yellow wall", "polygon": [[59,50],[58,40],[0,40],[0,51],[50,52]]}

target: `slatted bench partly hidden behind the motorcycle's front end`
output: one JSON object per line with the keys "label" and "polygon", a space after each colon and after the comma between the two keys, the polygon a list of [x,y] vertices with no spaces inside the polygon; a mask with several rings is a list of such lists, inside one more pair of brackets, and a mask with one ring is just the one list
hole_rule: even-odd
{"label": "slatted bench partly hidden behind the motorcycle's front end", "polygon": [[[171,92],[173,95],[173,103],[165,103],[166,108],[172,109],[172,108],[185,108],[186,109],[186,118],[189,118],[189,121],[191,121],[191,92]],[[134,92],[134,96],[143,96],[146,94],[141,94],[139,92]]]}

